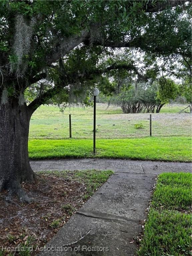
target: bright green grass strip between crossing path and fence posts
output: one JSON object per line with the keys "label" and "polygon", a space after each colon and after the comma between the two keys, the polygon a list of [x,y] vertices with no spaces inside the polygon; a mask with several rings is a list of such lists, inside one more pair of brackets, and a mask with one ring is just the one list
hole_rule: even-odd
{"label": "bright green grass strip between crossing path and fence posts", "polygon": [[158,161],[191,161],[190,137],[145,137],[134,139],[98,139],[96,155],[88,139],[30,140],[30,159],[51,158],[127,158]]}

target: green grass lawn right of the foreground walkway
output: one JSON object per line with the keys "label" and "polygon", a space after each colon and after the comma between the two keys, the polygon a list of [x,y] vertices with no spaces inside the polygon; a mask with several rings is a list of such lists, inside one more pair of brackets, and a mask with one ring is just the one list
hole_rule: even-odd
{"label": "green grass lawn right of the foreground walkway", "polygon": [[160,174],[138,256],[191,255],[190,173]]}

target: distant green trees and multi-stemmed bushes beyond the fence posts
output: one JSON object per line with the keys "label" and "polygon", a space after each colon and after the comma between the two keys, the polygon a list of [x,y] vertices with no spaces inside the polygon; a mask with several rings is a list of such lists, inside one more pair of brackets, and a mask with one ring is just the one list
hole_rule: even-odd
{"label": "distant green trees and multi-stemmed bushes beyond the fence posts", "polygon": [[191,110],[191,86],[189,85],[179,85],[165,77],[151,83],[129,79],[129,81],[121,81],[121,84],[119,92],[112,96],[100,95],[98,101],[118,105],[125,114],[159,113],[165,104],[174,102],[176,99],[181,103],[190,103]]}

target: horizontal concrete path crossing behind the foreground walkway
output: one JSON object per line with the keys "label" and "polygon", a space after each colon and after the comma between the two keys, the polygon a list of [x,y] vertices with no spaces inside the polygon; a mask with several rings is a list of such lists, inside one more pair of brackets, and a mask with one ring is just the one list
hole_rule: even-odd
{"label": "horizontal concrete path crossing behind the foreground walkway", "polygon": [[115,172],[159,174],[162,172],[189,172],[191,163],[132,161],[120,159],[65,159],[31,161],[34,171],[41,170],[113,170]]}

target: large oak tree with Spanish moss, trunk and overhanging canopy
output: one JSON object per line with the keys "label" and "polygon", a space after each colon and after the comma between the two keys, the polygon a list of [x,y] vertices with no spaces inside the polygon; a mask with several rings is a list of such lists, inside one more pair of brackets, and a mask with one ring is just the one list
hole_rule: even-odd
{"label": "large oak tree with Spanish moss, trunk and overhanging canopy", "polygon": [[[102,65],[110,49],[126,47],[168,57],[190,55],[190,3],[143,1],[0,1],[0,191],[29,201],[31,115],[54,98],[91,90],[97,77],[134,63]],[[107,62],[105,62],[106,64]],[[27,104],[25,92],[33,90]]]}

